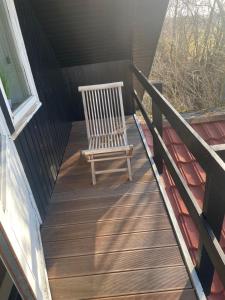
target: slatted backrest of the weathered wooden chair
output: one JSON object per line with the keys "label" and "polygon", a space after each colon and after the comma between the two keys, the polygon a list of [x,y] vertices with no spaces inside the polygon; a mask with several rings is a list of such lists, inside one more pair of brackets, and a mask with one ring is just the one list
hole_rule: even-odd
{"label": "slatted backrest of the weathered wooden chair", "polygon": [[123,133],[126,138],[123,108],[123,82],[80,86],[87,135],[91,137]]}

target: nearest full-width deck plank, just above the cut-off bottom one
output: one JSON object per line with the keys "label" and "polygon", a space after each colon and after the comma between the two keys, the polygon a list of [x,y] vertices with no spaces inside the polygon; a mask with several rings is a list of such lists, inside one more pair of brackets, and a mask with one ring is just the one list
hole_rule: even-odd
{"label": "nearest full-width deck plank, just above the cut-off bottom one", "polygon": [[147,269],[50,280],[57,299],[71,300],[191,288],[186,269]]}

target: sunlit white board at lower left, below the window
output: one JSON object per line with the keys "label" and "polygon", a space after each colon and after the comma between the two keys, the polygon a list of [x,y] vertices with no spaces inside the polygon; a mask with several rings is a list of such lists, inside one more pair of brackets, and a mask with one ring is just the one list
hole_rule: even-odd
{"label": "sunlit white board at lower left, below the window", "polygon": [[25,300],[50,300],[40,236],[41,217],[1,108],[0,135],[4,141],[0,149],[4,154],[0,165],[0,255],[17,289],[29,294],[24,296]]}

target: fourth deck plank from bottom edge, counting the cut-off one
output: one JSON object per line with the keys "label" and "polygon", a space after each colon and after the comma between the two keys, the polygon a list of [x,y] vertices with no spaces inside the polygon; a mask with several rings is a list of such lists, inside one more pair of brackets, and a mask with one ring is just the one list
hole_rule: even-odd
{"label": "fourth deck plank from bottom edge, counting the cut-off one", "polygon": [[46,258],[79,256],[115,251],[159,248],[177,245],[172,229],[126,233],[45,243]]}

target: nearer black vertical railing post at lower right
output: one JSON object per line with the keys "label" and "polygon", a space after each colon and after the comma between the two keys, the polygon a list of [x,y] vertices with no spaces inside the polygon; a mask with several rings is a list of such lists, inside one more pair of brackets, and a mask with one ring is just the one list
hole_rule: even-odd
{"label": "nearer black vertical railing post at lower right", "polygon": [[[216,174],[207,174],[205,197],[203,203],[203,217],[212,228],[216,238],[220,240],[223,219],[224,219],[224,200],[221,191],[217,187]],[[214,266],[209,258],[209,255],[201,241],[199,240],[198,258],[197,258],[197,271],[206,295],[210,294]]]}

